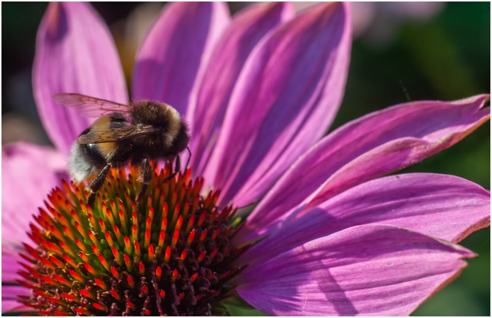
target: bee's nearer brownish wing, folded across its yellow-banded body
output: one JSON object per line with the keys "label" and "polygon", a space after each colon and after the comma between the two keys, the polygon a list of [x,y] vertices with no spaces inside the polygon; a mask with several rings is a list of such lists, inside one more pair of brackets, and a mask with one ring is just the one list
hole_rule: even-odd
{"label": "bee's nearer brownish wing, folded across its yellow-banded body", "polygon": [[92,128],[88,133],[80,135],[79,138],[77,138],[77,142],[79,144],[115,142],[127,138],[155,133],[157,131],[158,129],[153,126],[125,126],[107,129]]}

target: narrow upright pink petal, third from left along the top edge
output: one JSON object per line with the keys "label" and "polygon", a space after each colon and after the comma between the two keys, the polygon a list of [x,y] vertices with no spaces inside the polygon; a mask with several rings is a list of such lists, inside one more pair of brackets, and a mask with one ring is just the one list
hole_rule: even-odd
{"label": "narrow upright pink petal, third from left along the top edge", "polygon": [[272,29],[294,15],[289,3],[251,5],[239,12],[223,33],[207,65],[198,91],[190,138],[191,167],[202,173],[207,164],[213,138],[224,119],[234,84],[251,50]]}

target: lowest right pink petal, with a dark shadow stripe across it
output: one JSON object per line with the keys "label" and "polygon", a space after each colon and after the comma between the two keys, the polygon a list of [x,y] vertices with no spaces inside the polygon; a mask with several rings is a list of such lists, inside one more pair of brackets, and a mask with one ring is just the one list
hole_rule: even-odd
{"label": "lowest right pink petal, with a dark shadow stripe across it", "polygon": [[404,316],[474,256],[404,228],[355,226],[249,264],[237,291],[271,315]]}

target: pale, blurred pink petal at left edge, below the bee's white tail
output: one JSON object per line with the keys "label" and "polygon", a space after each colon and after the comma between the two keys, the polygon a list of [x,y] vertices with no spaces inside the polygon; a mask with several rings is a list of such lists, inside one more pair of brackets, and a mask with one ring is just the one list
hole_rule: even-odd
{"label": "pale, blurred pink petal at left edge, below the bee's white tail", "polygon": [[66,178],[65,158],[50,147],[16,143],[2,147],[2,244],[22,246],[32,215]]}

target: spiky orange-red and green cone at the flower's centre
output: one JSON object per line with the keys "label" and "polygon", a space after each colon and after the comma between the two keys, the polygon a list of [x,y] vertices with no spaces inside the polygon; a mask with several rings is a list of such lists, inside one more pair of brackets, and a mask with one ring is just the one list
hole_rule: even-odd
{"label": "spiky orange-red and green cone at the flower's centre", "polygon": [[189,169],[168,178],[168,165],[137,205],[135,172],[111,169],[93,209],[83,185],[63,181],[48,195],[31,224],[36,246],[21,254],[19,283],[33,290],[21,302],[50,316],[220,314],[242,269],[231,262],[247,249],[229,243],[236,210],[215,207],[219,191],[201,196]]}

